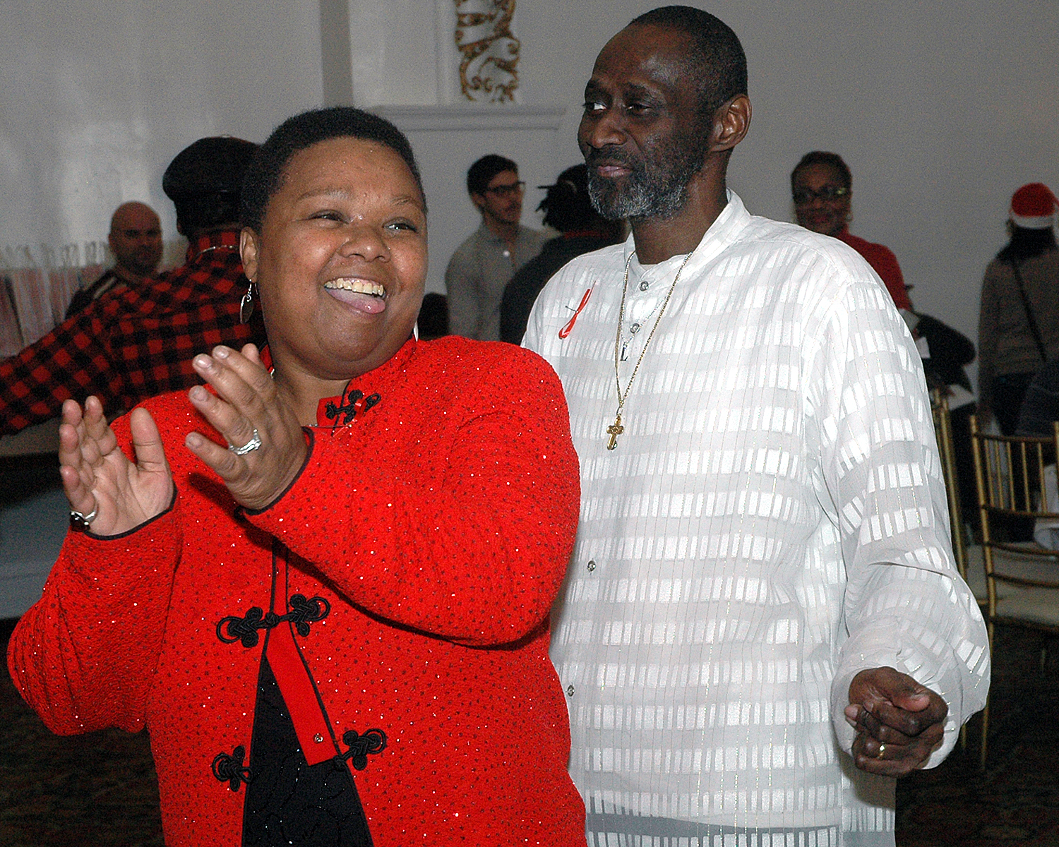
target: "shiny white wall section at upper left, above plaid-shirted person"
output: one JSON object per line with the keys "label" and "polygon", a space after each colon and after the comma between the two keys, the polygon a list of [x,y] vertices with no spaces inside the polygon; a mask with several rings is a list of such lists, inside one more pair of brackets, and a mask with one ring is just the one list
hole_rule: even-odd
{"label": "shiny white wall section at upper left, above plaid-shirted person", "polygon": [[263,141],[320,105],[318,0],[0,3],[0,245],[105,240],[196,139]]}

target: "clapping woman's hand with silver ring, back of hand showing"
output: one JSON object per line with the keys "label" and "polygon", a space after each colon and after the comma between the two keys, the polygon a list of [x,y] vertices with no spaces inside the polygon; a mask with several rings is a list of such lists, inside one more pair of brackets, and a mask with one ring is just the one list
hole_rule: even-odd
{"label": "clapping woman's hand with silver ring, back of hand showing", "polygon": [[298,416],[280,396],[253,344],[241,353],[214,347],[193,363],[217,395],[196,385],[189,399],[240,452],[226,450],[197,432],[189,433],[184,443],[223,480],[238,503],[249,509],[270,506],[305,463],[308,448]]}

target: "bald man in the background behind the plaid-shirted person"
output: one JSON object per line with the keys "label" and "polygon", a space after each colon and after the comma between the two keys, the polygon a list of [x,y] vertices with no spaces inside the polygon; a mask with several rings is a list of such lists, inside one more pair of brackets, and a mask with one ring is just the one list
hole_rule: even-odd
{"label": "bald man in the background behind the plaid-shirted person", "polygon": [[137,200],[122,203],[110,218],[107,240],[114,254],[114,267],[73,295],[67,307],[67,318],[107,291],[125,286],[140,287],[155,278],[162,260],[162,223],[154,209]]}

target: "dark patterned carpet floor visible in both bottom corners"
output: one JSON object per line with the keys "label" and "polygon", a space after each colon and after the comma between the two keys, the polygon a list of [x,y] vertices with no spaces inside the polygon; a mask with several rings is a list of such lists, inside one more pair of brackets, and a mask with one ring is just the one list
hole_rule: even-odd
{"label": "dark patterned carpet floor visible in both bottom corners", "polygon": [[[13,621],[0,621],[6,646]],[[977,719],[939,768],[901,780],[899,847],[1059,847],[1059,642],[998,628],[989,759]],[[146,734],[57,737],[0,673],[0,845],[161,847]]]}

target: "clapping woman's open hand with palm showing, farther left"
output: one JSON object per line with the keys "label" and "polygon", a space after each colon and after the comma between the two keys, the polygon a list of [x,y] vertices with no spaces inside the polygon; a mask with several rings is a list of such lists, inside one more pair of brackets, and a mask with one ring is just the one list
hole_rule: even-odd
{"label": "clapping woman's open hand with palm showing, farther left", "polygon": [[75,400],[62,403],[59,474],[70,507],[84,516],[95,512],[90,523],[95,535],[126,533],[161,515],[173,501],[169,463],[146,409],[132,410],[129,432],[134,465],[118,446],[97,397],[89,397],[84,410]]}

